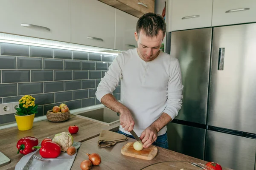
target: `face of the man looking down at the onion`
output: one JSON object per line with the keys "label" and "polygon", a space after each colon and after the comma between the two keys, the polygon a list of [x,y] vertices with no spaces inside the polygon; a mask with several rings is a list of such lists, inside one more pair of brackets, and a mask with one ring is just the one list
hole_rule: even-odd
{"label": "face of the man looking down at the onion", "polygon": [[158,56],[163,38],[163,31],[159,31],[156,37],[147,37],[143,30],[141,30],[139,34],[135,32],[140,58],[144,61],[152,61],[155,59]]}

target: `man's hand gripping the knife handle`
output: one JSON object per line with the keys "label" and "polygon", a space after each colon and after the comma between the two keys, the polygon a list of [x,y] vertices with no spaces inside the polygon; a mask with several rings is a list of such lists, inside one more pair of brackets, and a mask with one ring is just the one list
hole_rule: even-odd
{"label": "man's hand gripping the knife handle", "polygon": [[134,119],[129,110],[120,113],[120,125],[124,130],[130,132],[134,128]]}

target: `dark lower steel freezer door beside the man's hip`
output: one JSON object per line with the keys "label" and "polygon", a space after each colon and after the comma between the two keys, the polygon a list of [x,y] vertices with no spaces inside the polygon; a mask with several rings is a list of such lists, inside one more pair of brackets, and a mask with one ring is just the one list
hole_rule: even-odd
{"label": "dark lower steel freezer door beside the man's hip", "polygon": [[169,150],[204,159],[205,129],[170,122],[167,125]]}

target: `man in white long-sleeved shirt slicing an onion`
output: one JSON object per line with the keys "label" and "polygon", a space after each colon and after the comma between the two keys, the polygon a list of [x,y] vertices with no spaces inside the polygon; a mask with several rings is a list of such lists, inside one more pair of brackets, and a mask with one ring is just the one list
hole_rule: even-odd
{"label": "man in white long-sleeved shirt slicing an onion", "polygon": [[[177,116],[182,103],[180,65],[160,51],[166,23],[158,14],[144,14],[137,22],[138,48],[123,51],[113,61],[96,91],[97,99],[120,113],[119,133],[134,130],[143,147],[168,148],[166,125]],[[121,79],[121,101],[112,95]]]}

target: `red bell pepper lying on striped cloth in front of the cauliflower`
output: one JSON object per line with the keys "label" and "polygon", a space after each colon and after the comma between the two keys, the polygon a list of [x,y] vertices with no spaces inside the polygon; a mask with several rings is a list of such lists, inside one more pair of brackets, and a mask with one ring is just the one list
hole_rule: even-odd
{"label": "red bell pepper lying on striped cloth in front of the cauliflower", "polygon": [[61,147],[52,141],[47,141],[43,146],[35,146],[43,158],[57,158],[61,154]]}

